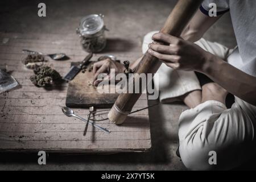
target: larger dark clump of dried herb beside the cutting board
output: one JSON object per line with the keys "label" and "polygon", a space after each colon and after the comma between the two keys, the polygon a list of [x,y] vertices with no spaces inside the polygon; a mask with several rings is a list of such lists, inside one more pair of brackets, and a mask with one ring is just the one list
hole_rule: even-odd
{"label": "larger dark clump of dried herb beside the cutting board", "polygon": [[30,77],[32,83],[39,87],[50,86],[55,81],[60,81],[60,73],[50,67],[39,67],[34,69],[35,75]]}

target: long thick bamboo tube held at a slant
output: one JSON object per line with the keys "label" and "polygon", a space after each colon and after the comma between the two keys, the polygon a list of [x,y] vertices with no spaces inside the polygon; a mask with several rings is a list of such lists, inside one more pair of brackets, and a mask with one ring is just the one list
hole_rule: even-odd
{"label": "long thick bamboo tube held at a slant", "polygon": [[[179,0],[168,16],[166,23],[160,32],[173,36],[180,36],[181,32],[196,13],[203,0]],[[134,73],[155,73],[161,65],[161,62],[148,52],[144,54]],[[130,84],[129,85],[134,85]],[[110,122],[121,124],[125,121],[135,102],[139,99],[141,93],[121,93],[115,104],[109,111]]]}

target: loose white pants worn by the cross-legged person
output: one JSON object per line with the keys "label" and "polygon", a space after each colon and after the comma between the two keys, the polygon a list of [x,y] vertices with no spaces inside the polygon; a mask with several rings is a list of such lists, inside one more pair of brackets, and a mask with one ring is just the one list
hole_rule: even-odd
{"label": "loose white pants worn by the cross-legged person", "polygon": [[[148,43],[152,42],[151,36],[154,33],[150,32],[144,37],[143,53]],[[218,43],[201,39],[196,44],[223,60],[229,62],[233,59],[229,57],[233,50]],[[201,89],[194,72],[174,71],[163,64],[158,73],[159,81],[155,84],[159,86],[159,99],[162,102]],[[194,170],[232,169],[240,166],[255,154],[255,122],[256,107],[238,97],[235,97],[230,109],[212,100],[183,111],[179,119],[181,160],[187,168]]]}

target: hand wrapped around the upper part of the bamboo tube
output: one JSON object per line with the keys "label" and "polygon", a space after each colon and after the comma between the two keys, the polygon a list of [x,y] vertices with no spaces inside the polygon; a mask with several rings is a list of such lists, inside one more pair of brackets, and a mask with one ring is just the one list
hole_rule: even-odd
{"label": "hand wrapped around the upper part of the bamboo tube", "polygon": [[[204,51],[196,44],[169,34],[154,34],[152,40],[154,42],[148,45],[148,53],[158,57],[168,67],[174,69],[200,71],[205,62],[212,56],[212,54]],[[160,45],[157,42],[164,42],[170,45]]]}

